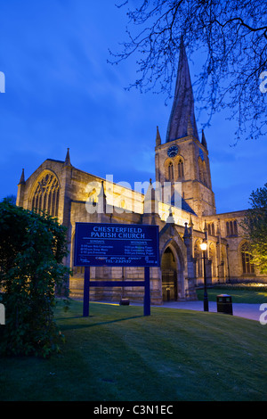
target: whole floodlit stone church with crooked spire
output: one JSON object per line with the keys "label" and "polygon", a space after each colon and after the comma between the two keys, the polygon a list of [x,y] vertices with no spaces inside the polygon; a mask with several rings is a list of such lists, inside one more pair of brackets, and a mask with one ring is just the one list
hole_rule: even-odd
{"label": "whole floodlit stone church with crooked spire", "polygon": [[[216,213],[206,137],[198,135],[190,70],[181,47],[174,103],[166,141],[157,127],[155,182],[142,193],[75,168],[69,149],[65,160],[47,159],[25,180],[20,177],[17,205],[44,210],[68,228],[70,297],[82,298],[84,268],[73,266],[77,222],[157,225],[160,267],[150,267],[152,304],[165,300],[194,300],[196,286],[204,281],[205,241],[208,284],[238,280],[266,281],[252,263],[249,243],[242,236],[240,221],[246,210]],[[143,267],[91,267],[92,279],[140,280]],[[118,287],[95,288],[92,300],[119,300]],[[124,297],[143,299],[143,289],[127,287]]]}

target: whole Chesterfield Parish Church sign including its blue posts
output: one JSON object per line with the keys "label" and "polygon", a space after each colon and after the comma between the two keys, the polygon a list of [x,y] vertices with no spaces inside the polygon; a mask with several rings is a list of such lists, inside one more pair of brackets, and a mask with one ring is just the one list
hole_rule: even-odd
{"label": "whole Chesterfield Parish Church sign including its blue posts", "polygon": [[[83,316],[90,287],[143,286],[144,316],[150,316],[150,267],[159,266],[158,226],[76,223],[74,266],[85,267]],[[144,281],[90,281],[90,267],[144,267]]]}

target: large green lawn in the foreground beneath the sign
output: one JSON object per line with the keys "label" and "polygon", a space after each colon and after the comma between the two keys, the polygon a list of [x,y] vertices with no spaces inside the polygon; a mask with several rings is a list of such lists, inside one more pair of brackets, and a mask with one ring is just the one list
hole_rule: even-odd
{"label": "large green lawn in the foreground beneath the sign", "polygon": [[0,359],[1,400],[266,400],[267,325],[219,313],[72,301],[61,354]]}

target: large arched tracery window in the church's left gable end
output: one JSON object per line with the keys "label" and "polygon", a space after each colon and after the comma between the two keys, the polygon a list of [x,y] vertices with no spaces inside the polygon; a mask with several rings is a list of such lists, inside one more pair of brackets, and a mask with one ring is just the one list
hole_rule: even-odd
{"label": "large arched tracery window in the church's left gable end", "polygon": [[60,185],[53,173],[46,173],[38,181],[31,200],[31,209],[44,211],[52,217],[58,217]]}

